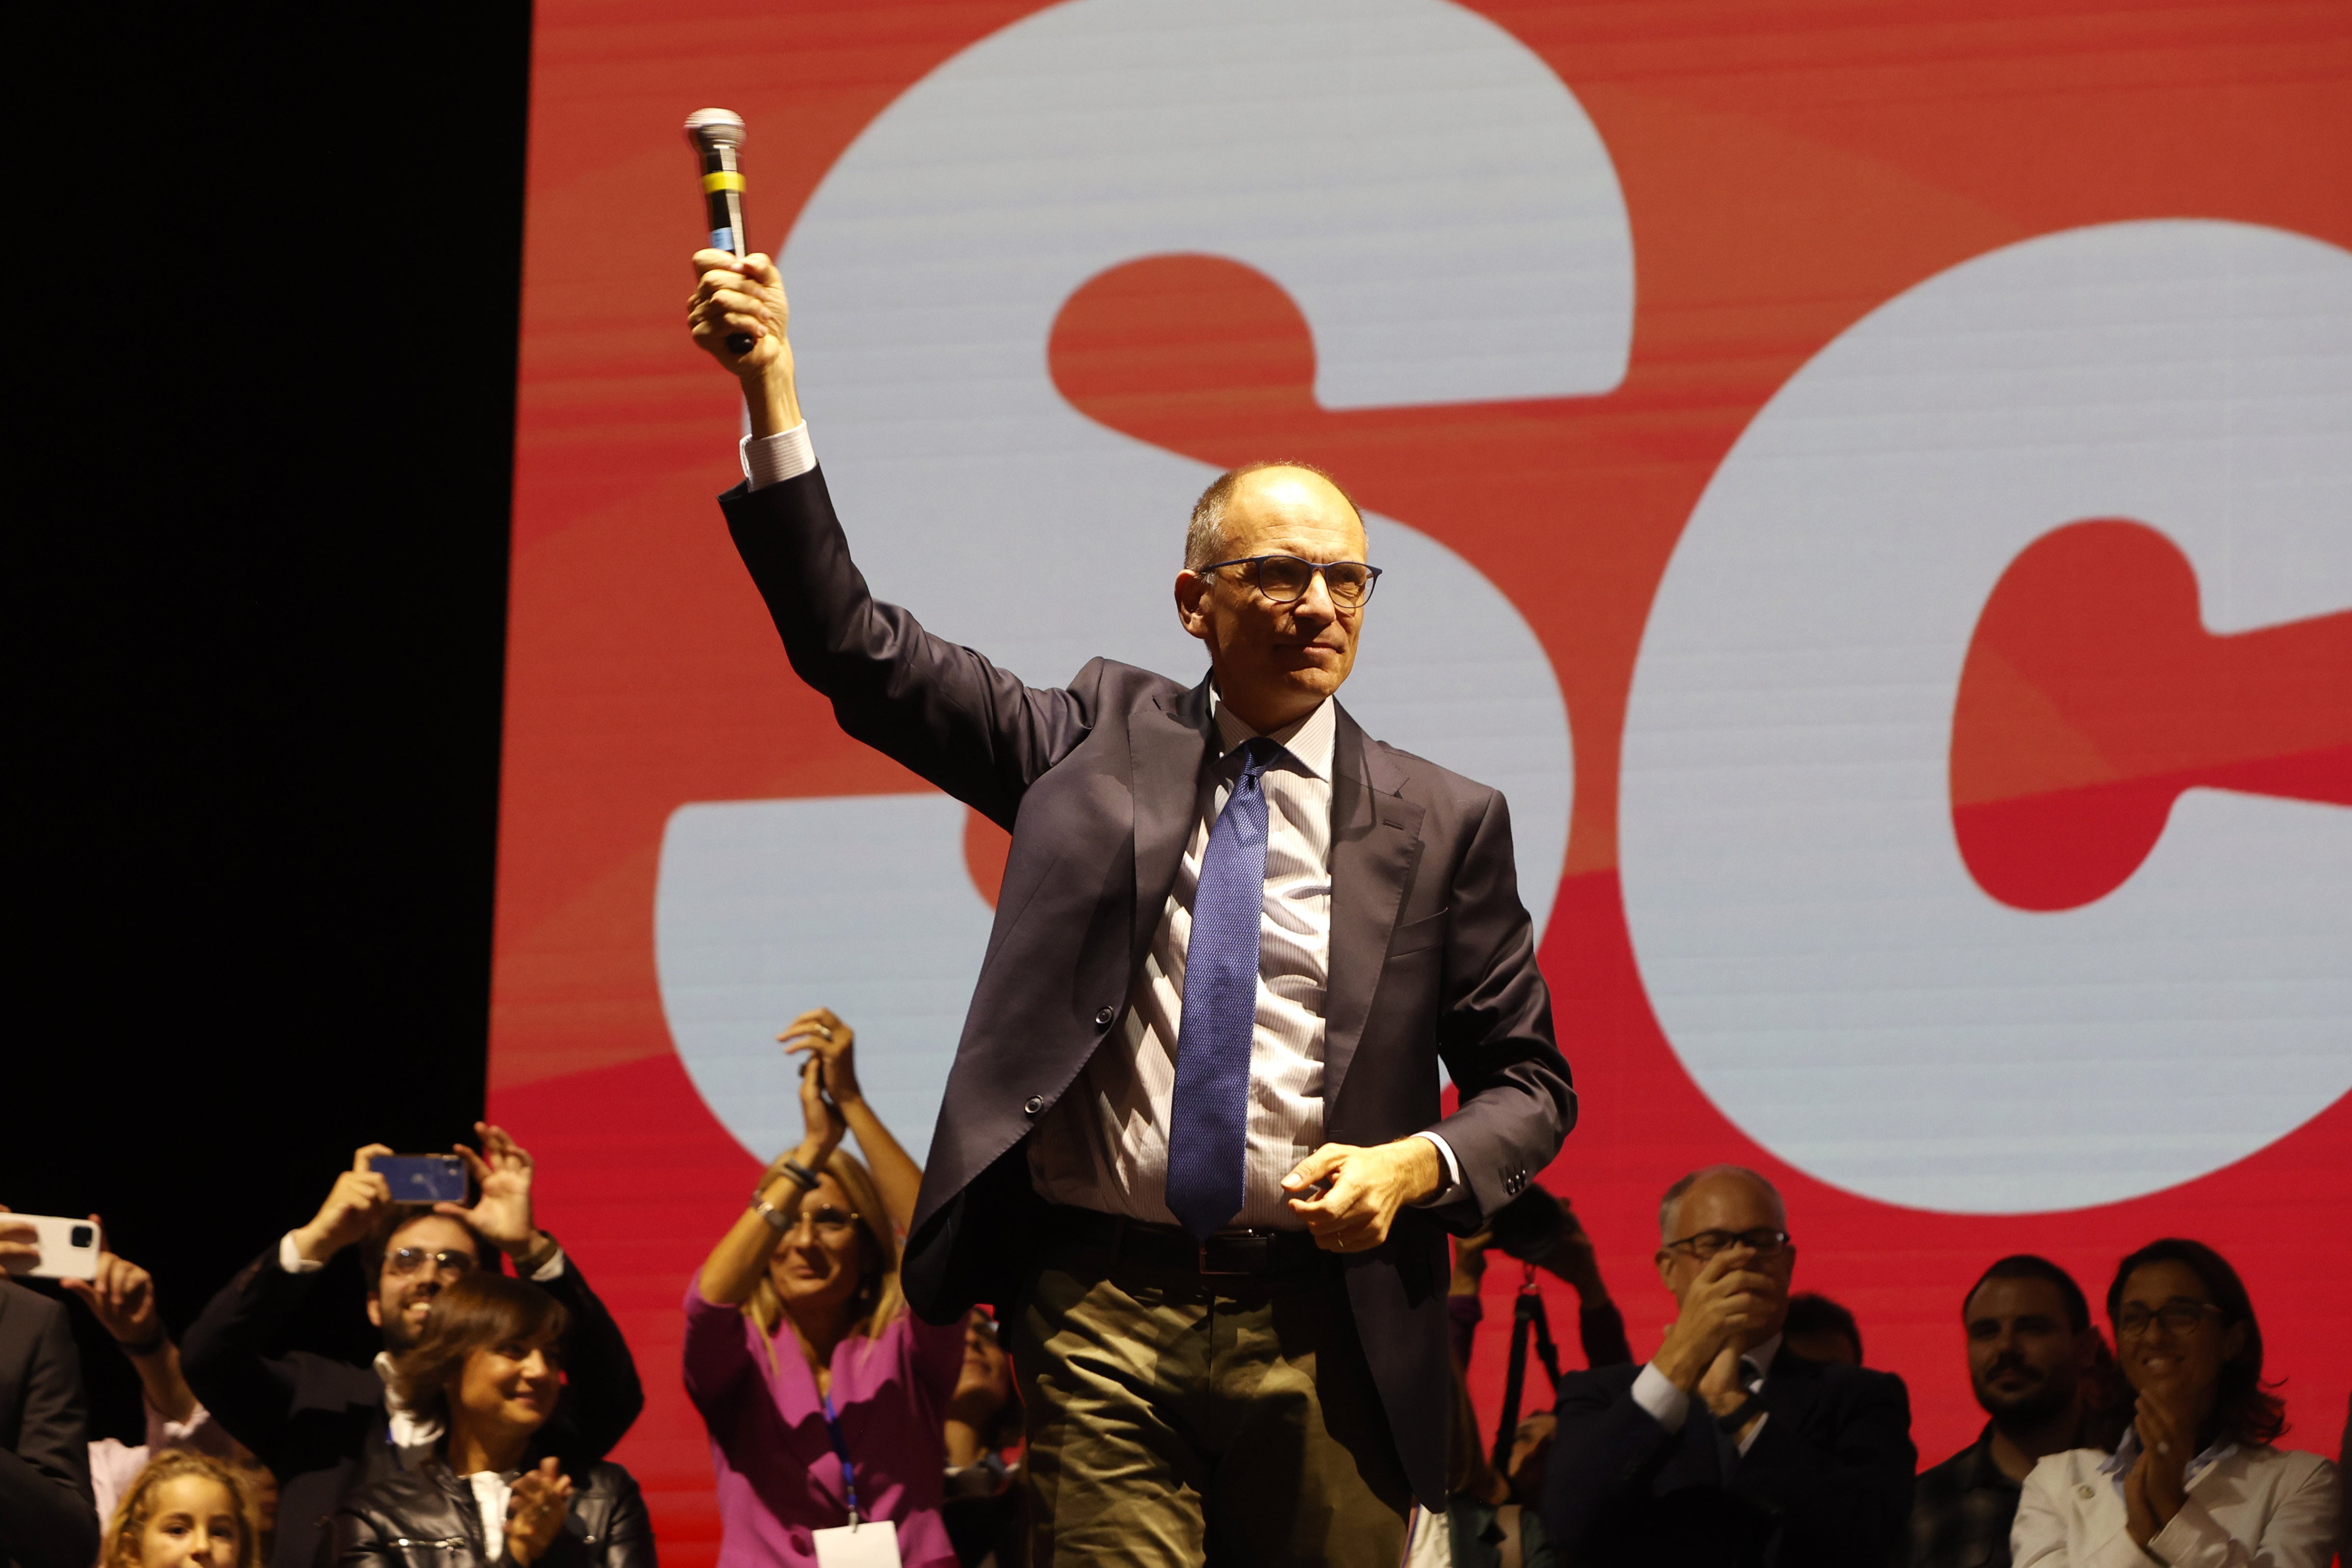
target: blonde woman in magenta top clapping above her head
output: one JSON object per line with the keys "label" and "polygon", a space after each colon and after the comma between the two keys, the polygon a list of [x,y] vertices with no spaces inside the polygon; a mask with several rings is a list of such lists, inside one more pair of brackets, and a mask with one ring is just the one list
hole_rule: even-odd
{"label": "blonde woman in magenta top clapping above her head", "polygon": [[[720,1568],[816,1563],[814,1533],[889,1521],[898,1561],[948,1568],[943,1427],[964,1324],[906,1309],[898,1227],[922,1171],[858,1091],[849,1025],[802,1013],[807,1133],[687,1286],[687,1394],[710,1429]],[[844,1133],[873,1159],[840,1147]]]}

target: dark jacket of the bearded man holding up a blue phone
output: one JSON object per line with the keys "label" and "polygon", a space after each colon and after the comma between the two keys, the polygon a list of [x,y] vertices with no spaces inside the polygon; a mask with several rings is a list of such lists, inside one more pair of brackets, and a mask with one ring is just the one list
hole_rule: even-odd
{"label": "dark jacket of the bearded man holding up a blue phone", "polygon": [[[278,1248],[245,1265],[188,1328],[181,1371],[212,1418],[278,1476],[278,1544],[270,1568],[325,1559],[336,1505],[365,1486],[414,1469],[430,1446],[397,1448],[374,1366],[308,1349],[268,1354],[318,1274],[287,1274]],[[548,1450],[602,1460],[644,1408],[637,1363],[579,1260],[541,1286],[572,1314],[564,1331],[564,1394],[548,1422]],[[576,1472],[574,1472],[576,1479]]]}

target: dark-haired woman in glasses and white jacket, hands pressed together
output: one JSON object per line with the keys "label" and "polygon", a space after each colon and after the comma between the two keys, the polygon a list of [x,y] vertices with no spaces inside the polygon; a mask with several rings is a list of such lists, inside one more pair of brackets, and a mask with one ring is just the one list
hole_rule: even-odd
{"label": "dark-haired woman in glasses and white jacket, hands pressed together", "polygon": [[2117,1265],[2107,1321],[2138,1396],[2131,1427],[2112,1455],[2067,1448],[2034,1465],[2013,1563],[2321,1568],[2336,1467],[2272,1446],[2286,1406],[2263,1387],[2263,1328],[2237,1269],[2201,1241],[2150,1241]]}

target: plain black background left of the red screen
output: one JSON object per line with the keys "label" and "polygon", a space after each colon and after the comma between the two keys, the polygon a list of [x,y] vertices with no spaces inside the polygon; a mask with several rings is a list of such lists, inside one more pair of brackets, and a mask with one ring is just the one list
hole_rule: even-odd
{"label": "plain black background left of the red screen", "polygon": [[[353,1147],[482,1114],[532,28],[198,12],[9,73],[0,1204],[103,1213],[174,1328]],[[358,1302],[299,1338],[365,1354]]]}

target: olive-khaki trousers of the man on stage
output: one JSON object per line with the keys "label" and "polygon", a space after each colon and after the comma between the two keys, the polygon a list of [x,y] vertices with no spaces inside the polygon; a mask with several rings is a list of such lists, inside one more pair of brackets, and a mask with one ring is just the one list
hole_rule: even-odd
{"label": "olive-khaki trousers of the man on stage", "polygon": [[1030,1568],[1404,1559],[1411,1488],[1336,1267],[1202,1276],[1049,1244],[1007,1328]]}

